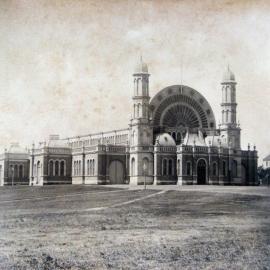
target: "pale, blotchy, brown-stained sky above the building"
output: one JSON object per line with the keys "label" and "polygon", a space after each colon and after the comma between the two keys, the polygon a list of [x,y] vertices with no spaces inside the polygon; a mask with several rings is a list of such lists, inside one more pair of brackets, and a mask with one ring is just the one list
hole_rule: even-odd
{"label": "pale, blotchy, brown-stained sky above the building", "polygon": [[132,73],[150,95],[181,83],[220,120],[222,74],[237,80],[242,147],[270,153],[270,1],[0,0],[0,147],[126,128]]}

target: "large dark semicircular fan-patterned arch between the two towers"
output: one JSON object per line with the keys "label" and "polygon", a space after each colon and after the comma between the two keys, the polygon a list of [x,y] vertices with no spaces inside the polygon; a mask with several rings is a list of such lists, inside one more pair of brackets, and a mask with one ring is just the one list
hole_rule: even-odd
{"label": "large dark semicircular fan-patterned arch between the two towers", "polygon": [[177,142],[187,129],[201,129],[204,134],[216,129],[210,104],[188,86],[173,85],[158,92],[150,102],[150,112],[154,133],[168,132]]}

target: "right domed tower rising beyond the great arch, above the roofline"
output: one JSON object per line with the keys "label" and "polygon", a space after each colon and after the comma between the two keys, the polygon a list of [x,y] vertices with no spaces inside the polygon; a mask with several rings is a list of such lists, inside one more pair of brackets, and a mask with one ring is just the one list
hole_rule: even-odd
{"label": "right domed tower rising beyond the great arch, above the roofline", "polygon": [[222,121],[220,125],[221,140],[224,145],[241,149],[241,129],[236,117],[236,81],[229,66],[223,75],[222,85]]}

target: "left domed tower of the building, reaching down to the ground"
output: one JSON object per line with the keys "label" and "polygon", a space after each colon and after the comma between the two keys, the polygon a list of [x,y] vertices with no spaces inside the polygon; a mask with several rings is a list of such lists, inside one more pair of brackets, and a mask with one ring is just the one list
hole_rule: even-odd
{"label": "left domed tower of the building, reaching down to the ground", "polygon": [[153,131],[149,118],[149,76],[142,57],[136,65],[130,120],[130,184],[153,182]]}

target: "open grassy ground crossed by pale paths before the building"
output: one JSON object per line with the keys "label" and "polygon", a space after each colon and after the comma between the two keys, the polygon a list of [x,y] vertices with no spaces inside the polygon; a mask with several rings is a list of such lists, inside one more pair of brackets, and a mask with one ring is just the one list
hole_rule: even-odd
{"label": "open grassy ground crossed by pale paths before the building", "polygon": [[0,269],[270,269],[270,189],[0,188]]}

